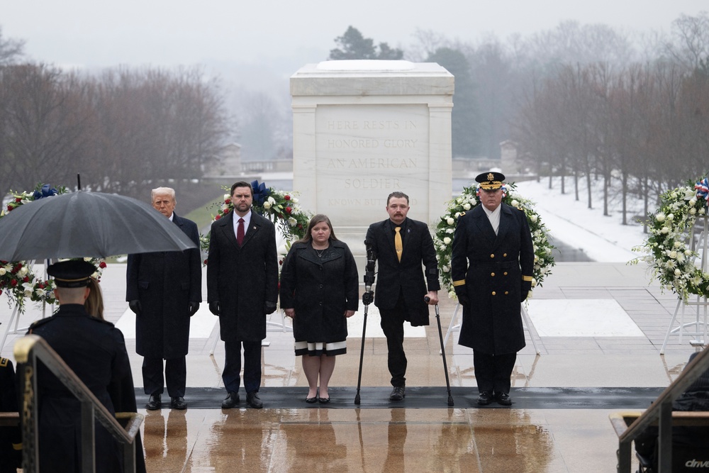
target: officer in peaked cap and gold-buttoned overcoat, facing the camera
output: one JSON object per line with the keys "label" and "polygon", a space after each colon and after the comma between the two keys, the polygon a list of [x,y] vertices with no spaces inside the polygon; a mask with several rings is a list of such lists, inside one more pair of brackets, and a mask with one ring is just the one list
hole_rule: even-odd
{"label": "officer in peaked cap and gold-buttoned overcoat, facing the camera", "polygon": [[482,205],[458,218],[451,272],[463,306],[458,343],[473,349],[478,404],[510,406],[510,376],[525,346],[521,301],[532,289],[534,249],[524,211],[502,203],[501,172],[484,172]]}

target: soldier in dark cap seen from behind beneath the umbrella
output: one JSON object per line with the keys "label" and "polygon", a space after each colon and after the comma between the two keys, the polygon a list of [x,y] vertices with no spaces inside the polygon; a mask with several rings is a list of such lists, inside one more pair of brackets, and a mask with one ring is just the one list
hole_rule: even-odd
{"label": "soldier in dark cap seen from behind beneath the umbrella", "polygon": [[[91,317],[84,310],[89,279],[96,267],[83,260],[57,262],[47,272],[54,277],[60,307],[54,316],[30,325],[77,374],[108,411],[135,412],[135,392],[121,330]],[[81,405],[41,363],[38,364],[39,460],[46,472],[81,469]],[[96,422],[96,471],[120,472],[120,447]],[[139,440],[139,439],[137,439]],[[143,447],[136,444],[138,470],[145,470]]]}

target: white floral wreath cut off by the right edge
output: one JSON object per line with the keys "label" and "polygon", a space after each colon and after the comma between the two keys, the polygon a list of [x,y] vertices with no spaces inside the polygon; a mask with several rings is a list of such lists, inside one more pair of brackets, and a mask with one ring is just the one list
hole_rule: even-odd
{"label": "white floral wreath cut off by the right edge", "polygon": [[630,264],[644,261],[652,268],[663,289],[687,302],[689,294],[709,297],[709,274],[695,264],[699,256],[691,250],[689,235],[698,216],[707,215],[709,180],[688,181],[660,196],[657,212],[648,214],[650,236],[635,252],[645,252]]}

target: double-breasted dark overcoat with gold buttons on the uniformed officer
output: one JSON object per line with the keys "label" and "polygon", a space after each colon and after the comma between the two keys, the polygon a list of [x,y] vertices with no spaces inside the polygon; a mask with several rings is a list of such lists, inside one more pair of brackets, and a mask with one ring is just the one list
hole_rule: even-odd
{"label": "double-breasted dark overcoat with gold buttons on the uniformed officer", "polygon": [[531,289],[534,266],[527,216],[500,205],[497,235],[482,204],[458,218],[451,259],[452,280],[465,280],[470,299],[458,343],[493,355],[525,347],[520,301]]}

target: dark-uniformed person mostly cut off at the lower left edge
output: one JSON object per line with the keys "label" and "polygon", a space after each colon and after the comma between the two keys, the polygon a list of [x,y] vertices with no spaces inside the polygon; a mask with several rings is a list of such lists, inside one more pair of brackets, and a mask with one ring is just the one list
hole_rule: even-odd
{"label": "dark-uniformed person mostly cut off at the lower left edge", "polygon": [[[18,412],[15,369],[0,357],[0,412]],[[15,426],[0,427],[0,473],[16,473],[22,465],[22,434]]]}

